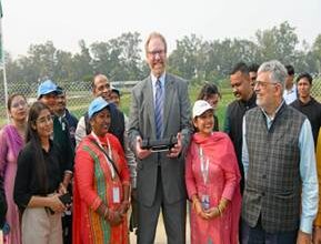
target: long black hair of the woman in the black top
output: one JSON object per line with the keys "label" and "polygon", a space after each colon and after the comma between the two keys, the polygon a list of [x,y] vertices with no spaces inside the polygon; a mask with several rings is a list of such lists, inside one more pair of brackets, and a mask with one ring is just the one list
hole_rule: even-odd
{"label": "long black hair of the woman in the black top", "polygon": [[33,149],[33,154],[34,154],[34,163],[36,163],[36,173],[38,175],[38,181],[41,191],[47,192],[48,189],[48,182],[47,182],[47,166],[44,163],[43,159],[43,153],[42,153],[42,145],[40,142],[39,134],[37,130],[34,129],[36,126],[36,121],[39,118],[39,114],[43,110],[49,110],[49,108],[43,104],[42,102],[34,102],[30,110],[29,110],[29,116],[28,116],[28,126],[27,126],[27,136],[26,136],[26,142],[31,143],[31,146]]}

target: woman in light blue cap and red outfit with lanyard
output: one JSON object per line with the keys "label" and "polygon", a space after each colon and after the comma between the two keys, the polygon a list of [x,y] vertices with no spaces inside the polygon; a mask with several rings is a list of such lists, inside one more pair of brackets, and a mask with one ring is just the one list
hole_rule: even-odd
{"label": "woman in light blue cap and red outfit with lanyard", "polygon": [[76,153],[72,242],[126,244],[130,176],[124,153],[108,133],[109,103],[94,99],[88,114],[92,132]]}

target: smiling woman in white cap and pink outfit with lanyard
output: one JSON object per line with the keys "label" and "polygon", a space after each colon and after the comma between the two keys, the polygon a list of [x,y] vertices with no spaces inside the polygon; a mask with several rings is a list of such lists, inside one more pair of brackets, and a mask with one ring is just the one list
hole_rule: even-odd
{"label": "smiling woman in white cap and pink outfit with lanyard", "polygon": [[241,211],[240,172],[232,142],[212,132],[213,109],[199,100],[193,106],[192,136],[185,183],[191,209],[191,243],[237,244]]}

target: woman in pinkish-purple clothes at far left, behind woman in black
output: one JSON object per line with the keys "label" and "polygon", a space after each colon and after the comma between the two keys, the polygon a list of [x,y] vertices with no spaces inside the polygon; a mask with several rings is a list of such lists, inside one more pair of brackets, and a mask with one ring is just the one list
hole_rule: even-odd
{"label": "woman in pinkish-purple clothes at far left, behind woman in black", "polygon": [[0,174],[3,177],[8,204],[6,222],[10,226],[6,243],[20,244],[19,211],[13,202],[13,186],[17,173],[17,157],[24,145],[27,131],[28,104],[24,96],[21,94],[11,95],[8,99],[8,111],[12,123],[0,131]]}

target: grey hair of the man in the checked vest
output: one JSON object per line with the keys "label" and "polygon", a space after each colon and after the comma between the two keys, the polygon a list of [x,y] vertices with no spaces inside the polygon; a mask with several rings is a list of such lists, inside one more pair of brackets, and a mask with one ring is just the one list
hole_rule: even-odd
{"label": "grey hair of the man in the checked vest", "polygon": [[280,83],[284,89],[288,71],[285,67],[278,60],[271,60],[260,65],[258,73],[270,72],[270,79],[274,83]]}

